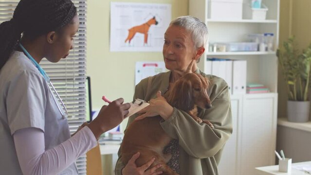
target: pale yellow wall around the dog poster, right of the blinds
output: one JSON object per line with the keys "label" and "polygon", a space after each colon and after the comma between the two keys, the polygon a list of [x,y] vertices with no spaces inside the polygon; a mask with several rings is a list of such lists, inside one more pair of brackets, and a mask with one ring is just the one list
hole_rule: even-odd
{"label": "pale yellow wall around the dog poster, right of the blinds", "polygon": [[[136,61],[162,61],[161,52],[110,52],[110,2],[144,2],[172,4],[172,19],[188,14],[188,0],[89,0],[87,15],[87,75],[91,76],[92,108],[123,97],[133,98]],[[125,123],[125,122],[124,122]]]}

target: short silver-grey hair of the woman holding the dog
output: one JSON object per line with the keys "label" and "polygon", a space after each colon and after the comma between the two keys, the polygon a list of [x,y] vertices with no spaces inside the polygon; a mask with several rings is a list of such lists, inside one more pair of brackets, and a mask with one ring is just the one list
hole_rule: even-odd
{"label": "short silver-grey hair of the woman holding the dog", "polygon": [[182,16],[174,19],[169,24],[183,27],[191,33],[195,48],[206,47],[208,30],[204,22],[192,16]]}

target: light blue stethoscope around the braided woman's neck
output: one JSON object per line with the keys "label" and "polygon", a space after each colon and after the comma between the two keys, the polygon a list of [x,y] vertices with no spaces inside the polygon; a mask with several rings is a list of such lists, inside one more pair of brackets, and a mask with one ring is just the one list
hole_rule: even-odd
{"label": "light blue stethoscope around the braided woman's neck", "polygon": [[52,96],[53,96],[53,99],[54,99],[54,101],[55,101],[55,103],[56,103],[56,106],[57,106],[59,112],[61,113],[63,119],[68,118],[68,111],[67,111],[67,108],[66,108],[65,104],[63,103],[63,101],[61,100],[61,98],[60,98],[59,94],[57,93],[56,89],[54,88],[54,86],[53,86],[53,84],[52,84],[52,82],[51,82],[50,77],[46,74],[46,72],[40,67],[40,65],[37,63],[37,61],[27,52],[27,50],[26,50],[20,43],[19,43],[19,47],[23,50],[23,52],[24,52],[24,53],[26,54],[26,56],[31,60],[31,62],[34,63],[34,65],[37,67],[37,69],[39,70],[39,72],[43,75],[43,77],[44,77],[44,79],[46,80],[46,82],[48,82],[48,84],[50,85],[49,88],[50,88],[51,92],[52,92],[51,87],[53,88],[53,90],[54,90],[54,92],[55,92],[57,98],[59,99],[61,105],[62,105],[62,106],[64,107],[64,109],[65,109],[65,113],[63,113],[62,110],[60,109],[60,107],[58,106],[57,101],[56,101],[56,99],[55,99],[55,96],[53,95],[53,92],[52,92]]}

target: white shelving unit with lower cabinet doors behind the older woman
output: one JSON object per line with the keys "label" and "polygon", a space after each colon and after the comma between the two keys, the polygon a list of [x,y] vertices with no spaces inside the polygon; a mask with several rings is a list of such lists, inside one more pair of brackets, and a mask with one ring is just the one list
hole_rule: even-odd
{"label": "white shelving unit with lower cabinet doors behind the older woman", "polygon": [[[251,0],[244,0],[243,8]],[[248,34],[274,33],[279,40],[280,0],[262,0],[268,8],[266,20],[211,19],[209,0],[189,0],[189,15],[205,22],[210,43],[245,42]],[[206,48],[206,50],[208,50]],[[203,71],[206,58],[247,61],[247,82],[264,84],[270,93],[232,95],[233,135],[226,143],[219,165],[220,175],[255,175],[255,167],[274,165],[277,125],[276,52],[205,52],[198,64]]]}

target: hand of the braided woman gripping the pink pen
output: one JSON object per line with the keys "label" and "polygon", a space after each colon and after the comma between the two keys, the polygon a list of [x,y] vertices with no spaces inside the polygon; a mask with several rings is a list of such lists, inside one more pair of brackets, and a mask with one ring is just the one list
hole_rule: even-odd
{"label": "hand of the braided woman gripping the pink pen", "polygon": [[123,104],[123,102],[124,99],[119,98],[107,106],[104,105],[98,116],[88,125],[96,139],[123,121],[130,107],[129,103]]}

